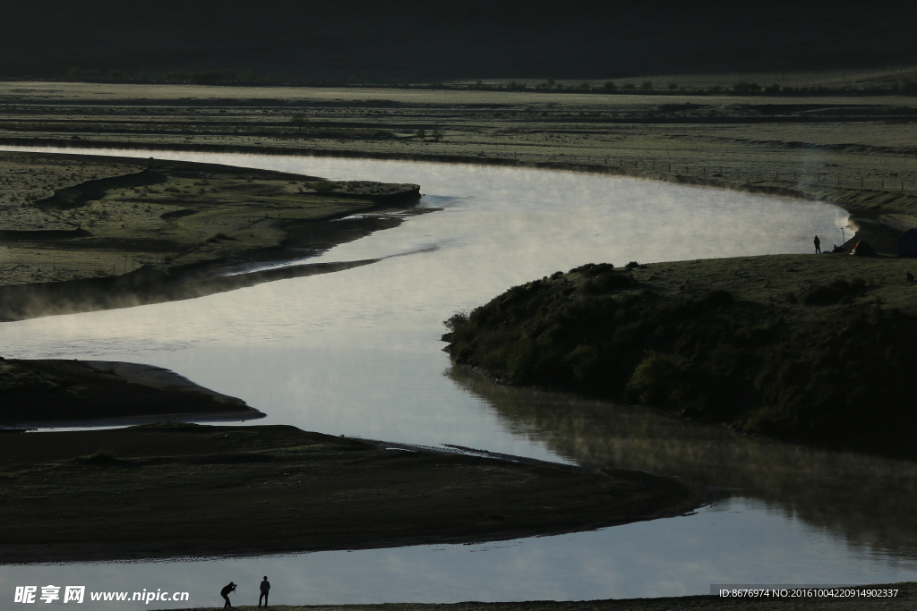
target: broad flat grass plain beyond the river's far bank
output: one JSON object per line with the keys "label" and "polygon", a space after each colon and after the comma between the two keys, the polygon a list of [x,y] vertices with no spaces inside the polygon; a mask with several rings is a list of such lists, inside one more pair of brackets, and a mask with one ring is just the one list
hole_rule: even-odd
{"label": "broad flat grass plain beyond the river's far bank", "polygon": [[4,82],[0,95],[0,144],[537,163],[917,214],[917,104],[908,96],[62,82]]}

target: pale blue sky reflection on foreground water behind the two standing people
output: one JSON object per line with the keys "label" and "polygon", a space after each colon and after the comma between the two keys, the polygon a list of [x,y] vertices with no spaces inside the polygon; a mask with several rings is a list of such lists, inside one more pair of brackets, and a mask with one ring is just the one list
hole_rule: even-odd
{"label": "pale blue sky reflection on foreground water behind the two standing people", "polygon": [[590,600],[709,594],[710,584],[877,584],[912,580],[915,572],[917,562],[851,554],[842,538],[825,529],[734,498],[685,518],[480,545],[6,566],[0,593],[12,593],[17,584],[162,588],[190,592],[190,606],[196,607],[217,604],[219,588],[232,580],[241,584],[233,603],[254,605],[266,574],[273,605]]}

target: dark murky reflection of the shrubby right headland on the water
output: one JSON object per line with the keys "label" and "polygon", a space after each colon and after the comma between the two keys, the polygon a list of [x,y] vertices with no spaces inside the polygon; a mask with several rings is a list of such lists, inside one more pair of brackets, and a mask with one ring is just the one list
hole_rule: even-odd
{"label": "dark murky reflection of the shrubby right headland on the water", "polygon": [[455,366],[447,375],[506,426],[580,464],[678,475],[754,498],[853,545],[917,558],[917,464],[759,441],[654,409],[503,387]]}

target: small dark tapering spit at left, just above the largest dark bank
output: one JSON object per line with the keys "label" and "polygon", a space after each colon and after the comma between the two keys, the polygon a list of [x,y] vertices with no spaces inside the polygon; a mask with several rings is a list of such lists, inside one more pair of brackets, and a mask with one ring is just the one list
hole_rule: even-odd
{"label": "small dark tapering spit at left, just above the largest dark bank", "polygon": [[168,369],[111,361],[0,359],[0,395],[0,431],[264,417]]}

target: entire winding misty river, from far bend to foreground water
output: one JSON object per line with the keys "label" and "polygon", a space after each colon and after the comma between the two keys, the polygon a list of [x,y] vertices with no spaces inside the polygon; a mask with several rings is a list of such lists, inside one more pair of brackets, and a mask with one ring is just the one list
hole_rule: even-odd
{"label": "entire winding misty river, from far bend to foreground water", "polygon": [[89,591],[189,591],[199,606],[219,601],[215,592],[232,580],[242,584],[234,603],[244,605],[255,604],[264,574],[274,604],[581,600],[704,594],[711,584],[917,579],[914,464],[500,387],[441,352],[443,320],[514,284],[590,261],[807,253],[812,235],[839,241],[842,210],[536,169],[87,152],[415,182],[425,193],[418,207],[431,212],[405,214],[394,229],[310,259],[377,263],[196,300],[4,323],[4,355],[164,366],[245,399],[267,413],[259,423],[679,475],[713,486],[720,500],[686,517],[492,544],[10,565],[0,568],[0,596],[16,585],[60,582]]}

